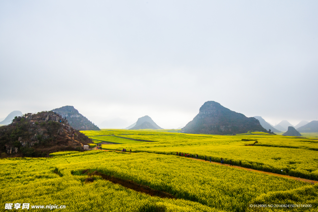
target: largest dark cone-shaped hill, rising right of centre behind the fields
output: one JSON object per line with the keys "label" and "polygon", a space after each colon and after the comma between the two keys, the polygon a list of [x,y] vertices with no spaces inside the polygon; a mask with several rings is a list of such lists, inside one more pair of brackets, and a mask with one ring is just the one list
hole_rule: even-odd
{"label": "largest dark cone-shaped hill, rising right of centre behind the fields", "polygon": [[247,118],[218,102],[207,101],[200,107],[199,114],[183,127],[181,132],[224,135],[247,133],[250,130],[267,132],[254,117]]}

